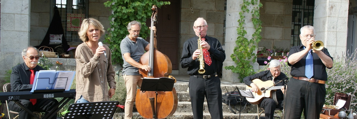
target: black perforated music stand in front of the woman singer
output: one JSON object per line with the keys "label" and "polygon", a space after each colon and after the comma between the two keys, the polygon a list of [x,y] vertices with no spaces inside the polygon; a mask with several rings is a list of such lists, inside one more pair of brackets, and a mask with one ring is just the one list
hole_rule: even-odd
{"label": "black perforated music stand in front of the woman singer", "polygon": [[112,119],[119,101],[75,103],[68,107],[64,119]]}

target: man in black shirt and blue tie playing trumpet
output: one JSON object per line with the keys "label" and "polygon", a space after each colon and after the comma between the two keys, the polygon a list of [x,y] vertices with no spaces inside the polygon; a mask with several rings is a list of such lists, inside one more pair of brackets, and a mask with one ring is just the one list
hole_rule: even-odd
{"label": "man in black shirt and blue tie playing trumpet", "polygon": [[284,119],[300,119],[302,112],[305,119],[318,119],[325,103],[326,68],[332,68],[333,59],[326,48],[312,48],[316,47],[312,46],[315,42],[313,26],[303,26],[300,39],[302,45],[293,46],[288,55],[292,77],[287,84]]}

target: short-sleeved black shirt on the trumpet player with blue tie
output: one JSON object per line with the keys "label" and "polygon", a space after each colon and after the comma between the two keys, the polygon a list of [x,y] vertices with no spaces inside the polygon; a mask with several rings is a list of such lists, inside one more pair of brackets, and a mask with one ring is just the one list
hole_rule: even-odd
{"label": "short-sleeved black shirt on the trumpet player with blue tie", "polygon": [[[289,51],[288,58],[290,57],[290,55],[304,50],[304,47],[305,46],[303,46],[303,45],[293,46]],[[321,51],[333,60],[333,58],[330,56],[330,53],[328,53],[326,48],[323,48]],[[313,57],[313,72],[314,72],[314,75],[311,78],[326,81],[327,73],[326,73],[325,64],[322,63],[320,57],[318,57],[318,55],[316,53],[311,52],[311,54]],[[307,56],[307,54],[303,58],[301,58],[300,61],[295,63],[294,65],[292,65],[288,62],[288,65],[291,66],[291,71],[290,71],[291,76],[306,77],[305,76],[306,56]],[[329,69],[331,69],[331,68],[329,68]]]}

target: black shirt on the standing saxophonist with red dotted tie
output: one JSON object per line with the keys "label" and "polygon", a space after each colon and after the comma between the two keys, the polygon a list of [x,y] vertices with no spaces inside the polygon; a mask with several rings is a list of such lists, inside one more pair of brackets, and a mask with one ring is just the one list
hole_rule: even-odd
{"label": "black shirt on the standing saxophonist with red dotted tie", "polygon": [[[198,49],[197,39],[198,39],[198,36],[188,39],[183,44],[183,49],[182,49],[181,67],[188,68],[187,74],[190,74],[190,75],[198,75],[199,74],[197,71],[200,68],[200,66],[199,66],[200,62],[198,61],[198,58],[196,60],[192,59],[193,52],[195,52]],[[211,64],[211,66],[208,66],[205,63],[204,69],[206,70],[206,72],[203,74],[199,74],[199,75],[212,75],[212,74],[216,73],[216,71],[219,67],[218,61],[223,62],[226,59],[226,54],[222,48],[221,43],[216,38],[206,36],[205,41],[211,47],[208,50],[208,52],[210,52],[212,64]]]}

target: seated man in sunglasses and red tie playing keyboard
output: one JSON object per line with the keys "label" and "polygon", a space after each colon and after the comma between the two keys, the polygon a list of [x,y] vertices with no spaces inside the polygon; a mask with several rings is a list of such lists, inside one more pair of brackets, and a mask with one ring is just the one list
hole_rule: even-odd
{"label": "seated man in sunglasses and red tie playing keyboard", "polygon": [[[11,91],[30,91],[35,78],[36,71],[45,70],[41,66],[37,66],[37,62],[40,58],[39,51],[33,47],[28,46],[22,50],[22,59],[24,63],[18,64],[12,68],[10,83]],[[26,106],[31,111],[45,112],[48,114],[52,109],[58,108],[56,105],[58,101],[56,99],[29,99],[20,100],[21,104]],[[13,101],[9,102],[9,109],[19,112],[20,119],[31,119],[32,115],[27,113],[19,105]],[[50,119],[56,119],[57,116],[53,116]]]}

